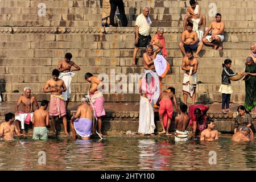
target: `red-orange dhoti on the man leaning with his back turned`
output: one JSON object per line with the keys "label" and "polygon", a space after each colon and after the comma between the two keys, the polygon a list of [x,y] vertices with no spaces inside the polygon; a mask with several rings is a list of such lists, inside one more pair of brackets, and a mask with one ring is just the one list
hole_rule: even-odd
{"label": "red-orange dhoti on the man leaning with his back turned", "polygon": [[164,120],[164,127],[167,127],[168,117],[172,118],[172,112],[174,111],[174,107],[172,106],[171,100],[161,100],[159,102],[159,115],[164,114],[163,120]]}

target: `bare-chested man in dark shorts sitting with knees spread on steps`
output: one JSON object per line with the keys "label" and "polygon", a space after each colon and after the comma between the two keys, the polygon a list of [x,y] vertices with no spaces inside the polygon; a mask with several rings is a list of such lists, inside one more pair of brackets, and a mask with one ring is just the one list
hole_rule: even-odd
{"label": "bare-chested man in dark shorts sitting with knees spread on steps", "polygon": [[196,58],[200,58],[199,52],[203,48],[203,42],[199,42],[197,34],[192,30],[193,24],[188,23],[187,30],[182,32],[181,42],[179,43],[180,51],[186,55],[188,49],[196,51]]}

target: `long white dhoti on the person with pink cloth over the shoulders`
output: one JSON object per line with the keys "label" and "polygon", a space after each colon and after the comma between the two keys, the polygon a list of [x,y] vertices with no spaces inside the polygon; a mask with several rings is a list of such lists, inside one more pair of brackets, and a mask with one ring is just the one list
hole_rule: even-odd
{"label": "long white dhoti on the person with pink cloth over the shoulders", "polygon": [[155,130],[154,122],[154,106],[152,102],[148,101],[148,98],[141,96],[139,102],[139,129],[138,133],[152,134]]}

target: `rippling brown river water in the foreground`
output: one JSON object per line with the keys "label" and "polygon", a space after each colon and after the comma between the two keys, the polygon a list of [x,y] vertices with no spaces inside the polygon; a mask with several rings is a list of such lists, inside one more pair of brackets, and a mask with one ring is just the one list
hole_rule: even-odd
{"label": "rippling brown river water in the foreground", "polygon": [[[40,151],[46,164],[38,164]],[[216,152],[216,165],[209,155]],[[214,153],[213,152],[213,153]],[[0,141],[0,170],[255,170],[255,142],[175,143],[166,138]]]}

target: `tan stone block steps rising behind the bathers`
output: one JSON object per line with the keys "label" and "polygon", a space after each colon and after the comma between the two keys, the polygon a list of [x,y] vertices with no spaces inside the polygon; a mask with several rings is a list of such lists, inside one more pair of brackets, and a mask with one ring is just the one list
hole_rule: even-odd
{"label": "tan stone block steps rising behind the bathers", "polygon": [[[135,15],[149,5],[151,19],[155,28],[164,26],[168,61],[171,71],[162,81],[163,89],[175,86],[177,97],[182,98],[183,71],[182,55],[177,47],[181,39],[182,21],[189,1],[125,1],[129,23],[133,24]],[[254,1],[198,1],[202,14],[207,21],[213,20],[208,11],[210,3],[215,3],[217,11],[226,22],[223,51],[214,51],[203,47],[200,53],[197,86],[197,101],[220,102],[218,88],[221,82],[221,63],[230,57],[232,69],[243,72],[245,59],[249,55],[249,46],[256,40],[256,19]],[[38,15],[39,3],[45,3],[46,16]],[[1,0],[0,14],[0,84],[5,101],[15,102],[24,86],[31,86],[38,100],[49,98],[42,93],[44,83],[51,78],[51,71],[57,67],[66,52],[71,52],[73,60],[80,65],[81,71],[73,77],[72,101],[80,98],[88,90],[84,73],[95,75],[114,70],[116,84],[120,81],[118,73],[128,75],[143,73],[141,55],[138,52],[138,67],[131,67],[134,48],[134,27],[101,27],[100,1],[4,1]],[[211,4],[213,5],[213,4]],[[153,8],[154,7],[154,8]],[[41,11],[40,11],[41,12]],[[125,78],[123,78],[125,79]],[[106,80],[105,80],[106,81]],[[127,81],[124,81],[127,83]],[[232,102],[243,103],[245,86],[242,81],[233,82]],[[109,85],[113,89],[113,84]],[[116,86],[116,85],[115,85]],[[125,87],[126,85],[123,85]],[[131,89],[131,88],[129,88]],[[105,94],[107,102],[138,102],[139,94]]]}

